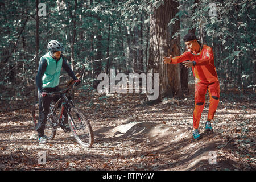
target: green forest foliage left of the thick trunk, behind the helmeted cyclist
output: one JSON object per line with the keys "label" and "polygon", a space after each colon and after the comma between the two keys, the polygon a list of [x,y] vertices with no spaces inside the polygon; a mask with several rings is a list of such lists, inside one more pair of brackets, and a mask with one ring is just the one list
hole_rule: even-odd
{"label": "green forest foliage left of the thick trunk, behind the helmeted cyclist", "polygon": [[[47,15],[39,18],[39,57],[46,53],[49,40],[56,39],[63,43],[63,54],[70,64],[75,35],[75,72],[79,72],[85,65],[84,79],[89,86],[83,86],[84,90],[91,89],[92,82],[96,80],[93,72],[108,72],[115,67],[121,72],[126,71],[119,65],[125,65],[129,57],[126,52],[127,39],[133,39],[134,34],[138,34],[140,23],[144,24],[143,34],[146,34],[146,25],[149,24],[144,15],[150,5],[146,1],[77,1],[75,5],[75,1],[58,0],[57,3],[42,3],[46,3]],[[3,64],[0,87],[2,90],[7,89],[1,92],[1,99],[8,99],[12,86],[26,88],[35,85],[36,3],[2,1],[0,6],[0,56]],[[23,26],[24,30],[21,31]],[[126,31],[127,27],[130,28],[129,32]],[[132,42],[131,51],[144,49],[145,39],[138,38]],[[19,92],[21,90],[17,89],[17,93],[14,93],[16,99],[26,94]]]}

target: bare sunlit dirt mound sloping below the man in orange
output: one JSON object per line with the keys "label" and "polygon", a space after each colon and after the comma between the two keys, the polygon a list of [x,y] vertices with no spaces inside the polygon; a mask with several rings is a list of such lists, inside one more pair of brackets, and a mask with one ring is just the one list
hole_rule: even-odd
{"label": "bare sunlit dirt mound sloping below the man in orange", "polygon": [[[96,135],[104,136],[108,142],[131,139],[138,143],[141,150],[136,156],[143,155],[143,148],[150,151],[151,156],[168,155],[168,160],[172,165],[166,170],[193,170],[193,169],[213,169],[213,157],[217,156],[216,147],[221,138],[215,134],[204,134],[202,139],[195,141],[192,139],[191,131],[182,129],[179,126],[168,126],[153,122],[131,122],[109,129],[100,129]],[[217,139],[218,138],[218,139]],[[210,142],[213,140],[214,142]],[[146,145],[144,145],[146,143]],[[150,149],[150,150],[148,150]],[[152,163],[152,165],[155,165]],[[204,167],[204,166],[207,167]],[[203,168],[204,167],[204,168]],[[216,167],[216,166],[214,166]]]}

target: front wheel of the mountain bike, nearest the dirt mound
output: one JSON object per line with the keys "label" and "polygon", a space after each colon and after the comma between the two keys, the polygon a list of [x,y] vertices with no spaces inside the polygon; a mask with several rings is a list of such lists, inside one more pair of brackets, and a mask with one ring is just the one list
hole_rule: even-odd
{"label": "front wheel of the mountain bike, nearest the dirt mound", "polygon": [[68,114],[69,127],[81,146],[92,147],[93,130],[89,120],[79,109],[72,107]]}

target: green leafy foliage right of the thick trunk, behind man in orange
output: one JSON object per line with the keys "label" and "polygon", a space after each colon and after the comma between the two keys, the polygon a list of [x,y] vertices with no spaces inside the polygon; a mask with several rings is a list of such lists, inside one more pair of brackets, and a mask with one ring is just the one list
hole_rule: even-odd
{"label": "green leafy foliage right of the thick trunk, behind man in orange", "polygon": [[[250,85],[253,82],[253,60],[255,56],[255,1],[179,1],[179,12],[169,24],[181,19],[180,32],[176,39],[188,29],[195,28],[197,37],[204,36],[204,44],[213,47],[217,71],[223,82],[234,85]],[[216,5],[216,16],[210,16],[210,3]],[[185,14],[184,12],[188,12]],[[178,19],[179,17],[179,19]],[[201,32],[201,30],[203,32]],[[181,43],[183,44],[183,43]],[[225,73],[229,72],[229,73]],[[228,75],[229,77],[226,77]],[[249,75],[248,79],[240,79]],[[242,77],[243,78],[243,77]]]}

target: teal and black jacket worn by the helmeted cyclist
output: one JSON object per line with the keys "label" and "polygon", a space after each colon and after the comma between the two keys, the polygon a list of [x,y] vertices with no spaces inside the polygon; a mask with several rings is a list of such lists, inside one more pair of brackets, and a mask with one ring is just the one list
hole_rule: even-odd
{"label": "teal and black jacket worn by the helmeted cyclist", "polygon": [[51,52],[48,52],[41,57],[36,75],[36,86],[39,93],[43,92],[43,88],[54,88],[59,85],[61,68],[64,68],[73,80],[77,80],[63,55],[59,59],[53,59]]}

